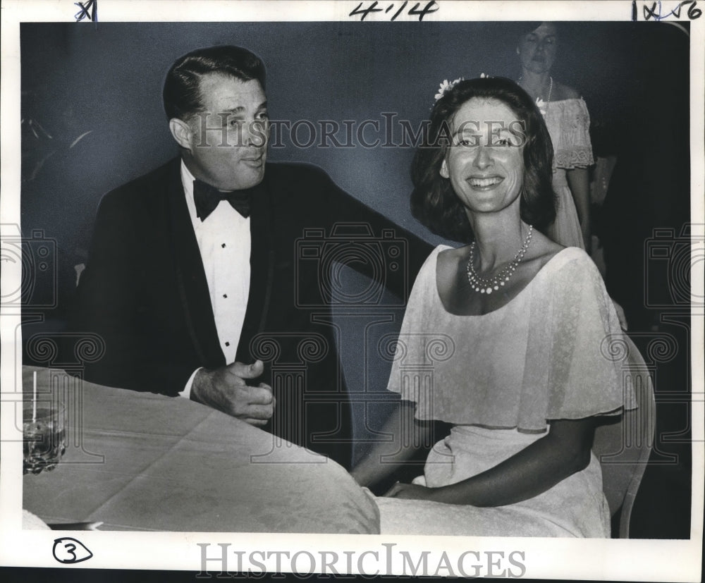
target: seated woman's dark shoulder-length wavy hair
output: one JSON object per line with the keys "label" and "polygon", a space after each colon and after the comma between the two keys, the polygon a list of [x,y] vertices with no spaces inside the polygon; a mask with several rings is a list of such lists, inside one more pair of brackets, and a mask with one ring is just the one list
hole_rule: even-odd
{"label": "seated woman's dark shoulder-length wavy hair", "polygon": [[501,102],[522,121],[525,141],[520,212],[523,221],[543,231],[556,218],[556,195],[551,187],[551,137],[531,97],[515,82],[501,77],[460,81],[446,90],[434,105],[427,140],[417,149],[411,166],[412,214],[438,235],[462,243],[472,241],[465,207],[455,195],[450,180],[441,177],[440,171],[449,146],[453,117],[462,104],[473,98]]}

